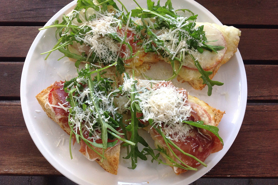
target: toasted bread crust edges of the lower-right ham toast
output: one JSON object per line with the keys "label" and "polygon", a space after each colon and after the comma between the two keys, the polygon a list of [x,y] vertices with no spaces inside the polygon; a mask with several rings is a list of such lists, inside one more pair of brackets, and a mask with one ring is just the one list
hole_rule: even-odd
{"label": "toasted bread crust edges of the lower-right ham toast", "polygon": [[[214,121],[213,126],[217,126],[217,125],[219,124],[219,122],[221,121],[223,115],[225,114],[225,112],[222,112],[222,111],[220,111],[220,110],[217,110],[217,109],[215,109],[215,108],[209,106],[209,104],[207,104],[206,102],[204,102],[204,101],[202,101],[202,100],[200,100],[200,99],[198,99],[198,98],[196,98],[196,97],[193,97],[193,96],[188,95],[188,101],[193,102],[193,103],[196,103],[196,104],[202,106],[202,107],[209,113],[209,115],[211,116],[211,119]],[[149,132],[149,129],[150,129],[150,128],[151,128],[151,126],[149,125],[149,126],[145,127],[144,129],[147,130],[147,131]],[[152,133],[152,132],[149,132],[149,133]],[[158,142],[157,137],[155,137],[153,134],[151,134],[151,138],[154,140],[154,145],[155,145],[155,147],[157,147],[157,146],[159,146],[160,148],[163,147],[163,146],[160,145],[160,143]],[[167,153],[170,153],[168,147],[163,147],[163,148],[166,149]],[[171,162],[166,158],[166,156],[165,156],[163,153],[161,153],[161,155],[162,155],[162,157],[166,160],[166,162],[167,162],[168,164],[171,164]],[[171,167],[173,168],[173,166],[171,166]],[[174,168],[173,168],[173,169],[174,169]],[[175,172],[176,175],[180,175],[181,173],[184,173],[184,172],[186,172],[186,171],[187,171],[187,170],[182,169],[182,170],[179,171],[178,173],[176,173],[175,171],[174,171],[174,172]]]}

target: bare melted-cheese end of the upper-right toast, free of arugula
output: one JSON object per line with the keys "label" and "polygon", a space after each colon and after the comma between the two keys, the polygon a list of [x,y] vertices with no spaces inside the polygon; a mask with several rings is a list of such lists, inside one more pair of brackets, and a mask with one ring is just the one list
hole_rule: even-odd
{"label": "bare melted-cheese end of the upper-right toast, free of arugula", "polygon": [[[218,50],[217,53],[208,50],[204,50],[203,53],[197,51],[192,52],[193,57],[198,60],[204,71],[212,71],[212,74],[209,75],[209,78],[212,79],[220,66],[228,62],[237,51],[241,31],[233,26],[196,23],[196,26],[201,25],[204,25],[207,40],[213,41],[207,42],[207,44],[224,47],[224,49]],[[193,88],[202,90],[206,84],[203,84],[203,80],[200,78],[200,72],[191,56],[187,55],[185,57],[185,62],[182,64],[183,66],[178,73],[178,80],[181,82],[189,82]]]}

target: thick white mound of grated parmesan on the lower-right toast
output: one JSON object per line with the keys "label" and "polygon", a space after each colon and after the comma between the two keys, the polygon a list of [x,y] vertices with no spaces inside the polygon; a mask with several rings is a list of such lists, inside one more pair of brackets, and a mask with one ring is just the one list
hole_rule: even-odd
{"label": "thick white mound of grated parmesan on the lower-right toast", "polygon": [[[123,92],[130,92],[134,79],[125,74]],[[162,132],[171,140],[185,142],[193,127],[182,123],[191,116],[191,106],[186,103],[186,90],[176,88],[171,82],[136,79],[135,98],[140,99],[139,106],[143,113],[142,121],[153,120],[153,126],[162,127]],[[135,92],[132,92],[135,93]],[[129,102],[130,103],[130,102]],[[152,127],[153,127],[152,126]]]}

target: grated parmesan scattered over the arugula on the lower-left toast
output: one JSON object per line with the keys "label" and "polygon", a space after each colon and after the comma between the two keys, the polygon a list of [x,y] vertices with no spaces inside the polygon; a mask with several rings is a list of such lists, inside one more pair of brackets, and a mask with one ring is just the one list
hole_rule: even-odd
{"label": "grated parmesan scattered over the arugula on the lower-left toast", "polygon": [[[76,81],[79,82],[87,82],[88,79],[84,77],[79,77],[76,79]],[[108,80],[110,81],[110,80]],[[114,91],[111,91],[108,95],[106,95],[105,91],[97,91],[96,89],[98,86],[103,86],[104,84],[98,82],[94,86],[94,94],[95,98],[99,99],[99,108],[98,112],[102,114],[102,119],[104,119],[106,122],[109,122],[109,118],[106,118],[103,113],[104,112],[111,112],[113,115],[113,119],[115,119],[115,114],[118,109],[118,107],[115,108],[114,106],[114,92],[118,92],[119,90],[116,89]],[[74,84],[70,84],[69,88],[76,88],[76,95],[73,96],[76,100],[76,106],[72,108],[72,112],[69,114],[71,115],[69,121],[73,125],[73,129],[75,132],[82,130],[83,134],[89,134],[89,132],[92,133],[92,136],[88,137],[88,139],[92,139],[93,141],[98,140],[101,138],[101,132],[99,125],[97,125],[97,119],[98,119],[98,113],[95,110],[94,102],[95,100],[90,100],[90,89],[88,87],[85,87],[82,91],[80,91],[77,86],[74,86]],[[108,89],[111,90],[111,89]],[[83,104],[86,103],[86,106],[83,107]],[[116,120],[119,121],[119,120]]]}

